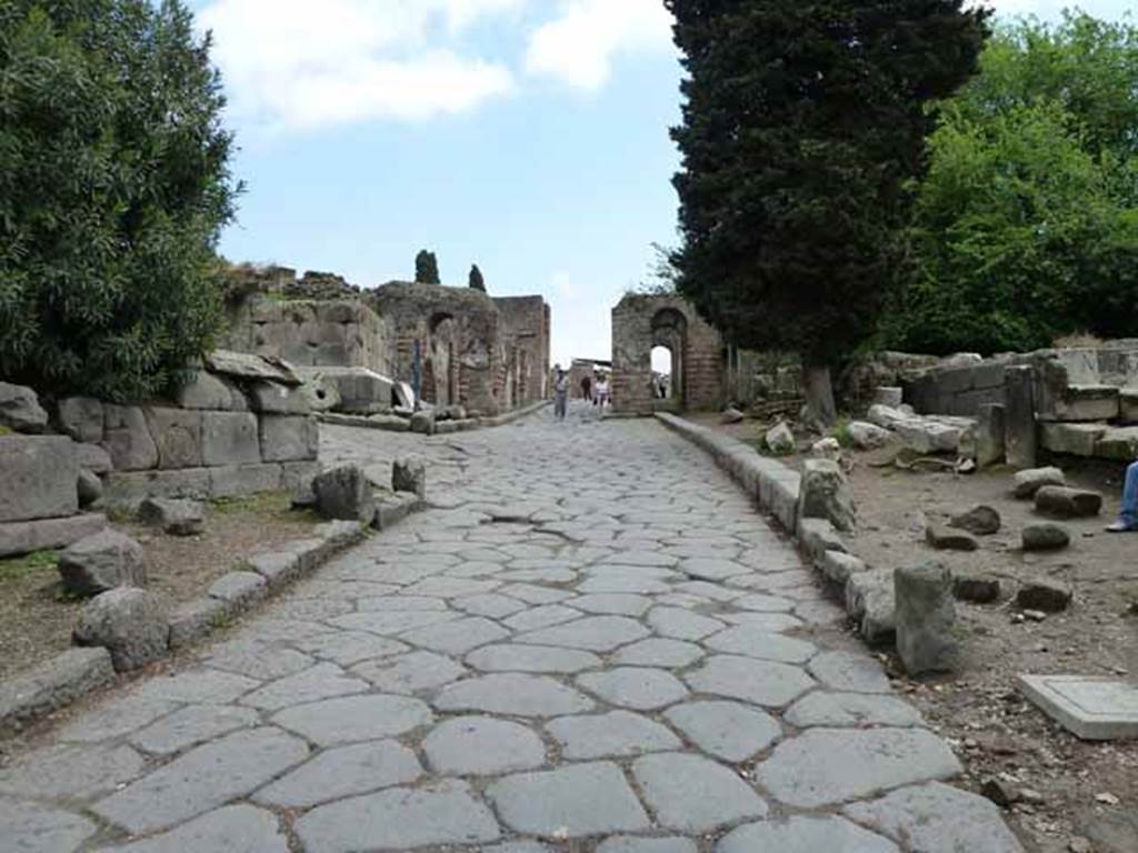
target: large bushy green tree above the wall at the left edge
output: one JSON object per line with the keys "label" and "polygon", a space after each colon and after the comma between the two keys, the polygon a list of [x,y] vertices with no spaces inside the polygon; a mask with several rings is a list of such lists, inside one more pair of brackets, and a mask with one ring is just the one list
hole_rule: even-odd
{"label": "large bushy green tree above the wall at the left edge", "polygon": [[142,398],[212,346],[223,105],[178,0],[0,0],[0,376]]}

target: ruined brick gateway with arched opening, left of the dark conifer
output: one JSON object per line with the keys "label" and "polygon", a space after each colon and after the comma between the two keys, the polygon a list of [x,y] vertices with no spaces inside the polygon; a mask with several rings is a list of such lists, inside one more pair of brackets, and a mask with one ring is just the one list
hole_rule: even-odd
{"label": "ruined brick gateway with arched opening, left of the dark conifer", "polygon": [[658,408],[652,389],[652,348],[673,353],[673,405],[719,408],[725,396],[725,355],[719,333],[687,300],[629,293],[612,309],[612,405],[617,412]]}

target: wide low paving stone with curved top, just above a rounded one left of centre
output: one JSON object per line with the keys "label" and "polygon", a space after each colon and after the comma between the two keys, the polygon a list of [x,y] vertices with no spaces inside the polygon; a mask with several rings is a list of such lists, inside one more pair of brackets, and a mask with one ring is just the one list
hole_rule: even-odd
{"label": "wide low paving stone with curved top, just above a rounded one left of centre", "polygon": [[435,697],[440,711],[485,711],[513,717],[560,717],[591,711],[592,699],[544,676],[504,672],[444,687]]}

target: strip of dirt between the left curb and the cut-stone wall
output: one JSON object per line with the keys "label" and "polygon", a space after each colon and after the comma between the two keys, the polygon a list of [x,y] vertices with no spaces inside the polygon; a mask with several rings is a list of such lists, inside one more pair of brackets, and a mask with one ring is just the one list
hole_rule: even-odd
{"label": "strip of dirt between the left curb and the cut-stone wall", "polygon": [[[286,492],[216,500],[199,536],[166,536],[130,519],[114,527],[142,546],[149,589],[172,606],[200,595],[253,554],[303,539],[321,521]],[[0,679],[66,651],[83,602],[64,591],[56,552],[0,560]]]}

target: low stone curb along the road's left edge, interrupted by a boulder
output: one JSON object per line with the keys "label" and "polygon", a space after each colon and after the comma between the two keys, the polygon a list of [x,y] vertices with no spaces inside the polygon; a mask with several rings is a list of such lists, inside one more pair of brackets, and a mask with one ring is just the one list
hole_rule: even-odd
{"label": "low stone curb along the road's left edge, interrupted by a boulder", "polygon": [[[386,530],[422,506],[415,495],[398,495],[380,504],[377,521]],[[332,521],[313,533],[248,558],[245,568],[215,580],[204,596],[175,607],[168,616],[171,652],[205,639],[270,595],[313,573],[338,552],[362,540],[366,529],[360,522]],[[0,734],[16,731],[114,680],[106,648],[69,648],[34,671],[0,684]]]}

